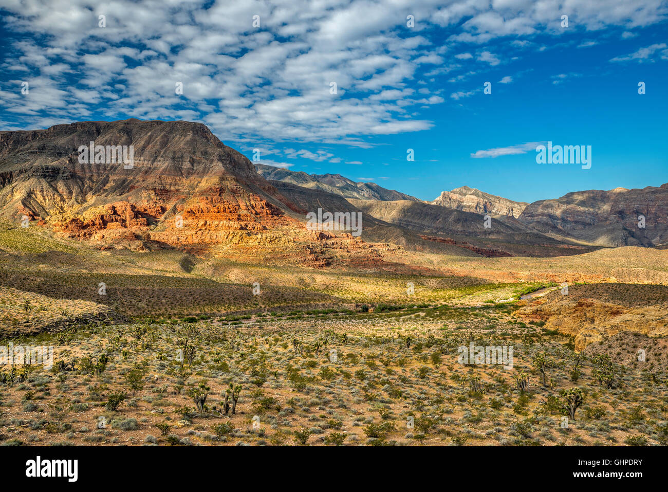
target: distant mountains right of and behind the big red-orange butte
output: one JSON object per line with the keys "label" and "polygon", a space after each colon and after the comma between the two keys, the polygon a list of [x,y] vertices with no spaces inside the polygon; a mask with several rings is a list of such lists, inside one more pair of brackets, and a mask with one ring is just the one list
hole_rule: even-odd
{"label": "distant mountains right of and behind the big red-orange butte", "polygon": [[[538,233],[564,243],[603,247],[663,247],[668,243],[668,184],[572,192],[559,199],[534,203],[512,201],[464,186],[443,191],[434,201],[422,201],[373,182],[354,182],[340,174],[307,174],[263,164],[256,167],[267,179],[335,193],[377,219],[424,233]],[[448,212],[425,205],[444,207]],[[504,225],[494,233],[486,233],[480,230],[480,217],[466,213],[489,214]],[[641,227],[641,220],[645,227]]]}

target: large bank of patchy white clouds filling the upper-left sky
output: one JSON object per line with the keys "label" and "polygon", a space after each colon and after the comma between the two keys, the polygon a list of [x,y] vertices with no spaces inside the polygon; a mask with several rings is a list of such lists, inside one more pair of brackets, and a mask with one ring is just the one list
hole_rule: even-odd
{"label": "large bank of patchy white clouds filling the upper-left sky", "polygon": [[[508,50],[537,49],[528,41],[535,35],[560,35],[561,3],[5,0],[10,36],[1,64],[0,128],[104,114],[200,121],[236,142],[369,146],[371,136],[427,130],[432,122],[420,110],[474,94],[445,90],[432,75],[470,73],[462,61],[491,70],[512,57]],[[572,25],[583,30],[636,29],[668,11],[656,0],[572,0],[568,7]],[[98,27],[100,15],[106,27]],[[415,27],[407,27],[407,15]],[[498,46],[486,46],[507,36],[526,43],[504,43],[502,58]],[[656,45],[649,51],[662,53]],[[645,53],[619,61],[651,56]],[[417,81],[424,82],[420,92],[413,89]],[[29,82],[29,96],[21,96],[22,82]],[[182,94],[175,92],[178,82]]]}

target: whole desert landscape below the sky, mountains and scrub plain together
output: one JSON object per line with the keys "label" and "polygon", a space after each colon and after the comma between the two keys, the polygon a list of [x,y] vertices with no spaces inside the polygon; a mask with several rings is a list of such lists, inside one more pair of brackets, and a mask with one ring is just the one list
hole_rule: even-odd
{"label": "whole desert landscape below the sky, mountains and scrub plain together", "polygon": [[[422,201],[200,123],[0,132],[0,441],[666,445],[648,184]],[[360,234],[307,227],[319,209]]]}

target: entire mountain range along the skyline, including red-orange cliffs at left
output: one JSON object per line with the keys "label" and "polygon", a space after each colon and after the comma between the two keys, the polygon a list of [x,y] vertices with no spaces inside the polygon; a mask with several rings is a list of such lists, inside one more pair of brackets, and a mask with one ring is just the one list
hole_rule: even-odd
{"label": "entire mountain range along the skyline, including red-orange cliffs at left", "polygon": [[[82,162],[79,149],[90,142],[132,146],[134,162]],[[363,213],[363,239],[310,231],[305,216],[318,208]],[[313,266],[373,264],[397,247],[554,256],[665,247],[668,184],[530,204],[460,187],[427,202],[340,174],[254,165],[203,124],[130,119],[0,132],[0,217],[101,248],[206,250]]]}

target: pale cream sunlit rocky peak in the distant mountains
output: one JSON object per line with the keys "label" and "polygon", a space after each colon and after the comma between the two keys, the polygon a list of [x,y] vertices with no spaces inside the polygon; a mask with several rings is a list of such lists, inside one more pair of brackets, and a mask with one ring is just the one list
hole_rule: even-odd
{"label": "pale cream sunlit rocky peak in the distant mountains", "polygon": [[528,205],[528,203],[515,202],[469,187],[444,191],[440,197],[432,201],[432,204],[466,212],[515,218],[520,217],[524,207]]}

